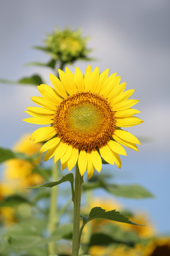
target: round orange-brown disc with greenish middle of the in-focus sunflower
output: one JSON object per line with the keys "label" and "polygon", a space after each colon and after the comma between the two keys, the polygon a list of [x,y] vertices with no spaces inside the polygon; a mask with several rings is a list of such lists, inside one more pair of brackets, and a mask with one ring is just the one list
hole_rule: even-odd
{"label": "round orange-brown disc with greenish middle of the in-focus sunflower", "polygon": [[111,139],[115,113],[103,97],[92,92],[77,92],[57,107],[53,125],[62,142],[91,151]]}

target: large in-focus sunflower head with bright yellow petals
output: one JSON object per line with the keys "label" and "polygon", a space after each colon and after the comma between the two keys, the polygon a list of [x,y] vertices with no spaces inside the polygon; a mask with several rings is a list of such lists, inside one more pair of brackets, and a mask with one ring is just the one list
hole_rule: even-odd
{"label": "large in-focus sunflower head with bright yellow petals", "polygon": [[[116,73],[108,77],[108,70],[99,75],[89,65],[85,75],[76,68],[59,71],[60,79],[50,74],[55,89],[38,86],[42,97],[31,97],[40,107],[28,107],[33,117],[23,119],[33,124],[50,124],[33,132],[30,139],[46,142],[40,152],[46,152],[45,161],[55,156],[61,160],[62,169],[71,171],[78,162],[81,176],[87,170],[89,178],[94,169],[101,171],[102,159],[121,166],[120,156],[126,155],[123,146],[138,151],[139,140],[120,127],[132,127],[143,121],[131,108],[139,100],[128,100],[135,90],[124,92],[126,83],[120,84]],[[122,145],[123,146],[122,146]]]}

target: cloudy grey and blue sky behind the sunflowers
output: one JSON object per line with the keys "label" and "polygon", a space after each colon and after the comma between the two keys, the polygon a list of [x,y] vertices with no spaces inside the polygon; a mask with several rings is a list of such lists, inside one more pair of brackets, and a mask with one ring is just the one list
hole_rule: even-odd
{"label": "cloudy grey and blue sky behind the sunflowers", "polygon": [[[103,171],[113,171],[119,183],[139,183],[154,194],[142,200],[120,198],[120,203],[149,213],[164,234],[170,232],[169,11],[168,0],[6,0],[0,8],[0,78],[18,80],[40,73],[49,81],[50,70],[23,64],[47,61],[47,55],[31,46],[42,45],[45,33],[56,27],[69,27],[91,36],[88,46],[96,58],[92,69],[109,68],[110,74],[118,73],[127,82],[127,89],[135,89],[144,124],[128,131],[142,137],[139,153],[128,149],[120,170],[107,166]],[[87,63],[77,65],[84,73]],[[70,70],[77,65],[69,65]],[[0,85],[0,146],[11,148],[21,134],[39,127],[22,121],[27,117],[23,111],[33,105],[30,97],[36,95],[38,90],[31,85]]]}

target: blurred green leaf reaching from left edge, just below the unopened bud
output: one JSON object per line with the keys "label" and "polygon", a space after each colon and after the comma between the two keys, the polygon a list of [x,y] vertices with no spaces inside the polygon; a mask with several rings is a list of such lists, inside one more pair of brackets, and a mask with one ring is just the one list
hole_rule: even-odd
{"label": "blurred green leaf reaching from left edge, just below the unopened bud", "polygon": [[4,84],[8,84],[8,85],[20,85],[20,84],[23,84],[23,85],[40,85],[40,84],[43,84],[44,82],[42,81],[42,78],[40,78],[40,75],[32,75],[30,77],[24,77],[24,78],[21,78],[20,80],[18,81],[12,81],[12,80],[6,80],[6,79],[0,79],[0,82],[1,83],[4,83]]}

